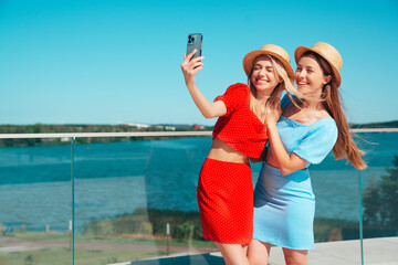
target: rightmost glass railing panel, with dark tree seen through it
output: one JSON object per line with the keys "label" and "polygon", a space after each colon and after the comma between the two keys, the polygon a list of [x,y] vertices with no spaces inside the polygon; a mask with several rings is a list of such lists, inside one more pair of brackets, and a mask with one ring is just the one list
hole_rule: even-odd
{"label": "rightmost glass railing panel, with dark tree seen through it", "polygon": [[398,261],[398,132],[359,136],[367,140],[363,149],[369,166],[362,172],[364,261],[394,264]]}

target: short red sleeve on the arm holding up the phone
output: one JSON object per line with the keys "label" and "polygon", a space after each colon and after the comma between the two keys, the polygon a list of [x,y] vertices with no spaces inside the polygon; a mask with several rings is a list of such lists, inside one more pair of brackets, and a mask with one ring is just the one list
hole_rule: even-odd
{"label": "short red sleeve on the arm holding up the phone", "polygon": [[249,86],[245,84],[237,83],[227,88],[226,93],[214,98],[213,102],[222,100],[227,107],[227,115],[235,112],[238,108],[243,106],[245,100],[249,98]]}

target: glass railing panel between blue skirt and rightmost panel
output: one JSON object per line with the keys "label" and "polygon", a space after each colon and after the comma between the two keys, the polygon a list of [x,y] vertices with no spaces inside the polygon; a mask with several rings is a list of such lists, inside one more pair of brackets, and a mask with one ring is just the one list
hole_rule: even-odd
{"label": "glass railing panel between blue skirt and rightmost panel", "polygon": [[[368,135],[368,134],[366,134]],[[364,140],[354,136],[358,146]],[[374,156],[374,155],[371,155]],[[360,264],[360,174],[331,152],[310,167],[315,194],[314,240],[317,258]],[[321,244],[320,244],[321,243]]]}

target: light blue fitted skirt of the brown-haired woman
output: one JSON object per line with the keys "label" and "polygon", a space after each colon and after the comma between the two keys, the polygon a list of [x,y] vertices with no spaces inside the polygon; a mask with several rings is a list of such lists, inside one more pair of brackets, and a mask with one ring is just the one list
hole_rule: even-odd
{"label": "light blue fitted skirt of the brown-haired woman", "polygon": [[283,176],[264,162],[254,189],[253,239],[292,250],[312,250],[314,214],[308,170]]}

